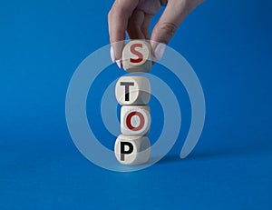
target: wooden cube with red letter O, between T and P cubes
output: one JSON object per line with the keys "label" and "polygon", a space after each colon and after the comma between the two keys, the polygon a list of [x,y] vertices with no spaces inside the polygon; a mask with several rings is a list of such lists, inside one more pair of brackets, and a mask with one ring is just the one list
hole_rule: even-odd
{"label": "wooden cube with red letter O, between T and P cubes", "polygon": [[151,128],[151,111],[148,105],[121,106],[121,134],[147,135]]}

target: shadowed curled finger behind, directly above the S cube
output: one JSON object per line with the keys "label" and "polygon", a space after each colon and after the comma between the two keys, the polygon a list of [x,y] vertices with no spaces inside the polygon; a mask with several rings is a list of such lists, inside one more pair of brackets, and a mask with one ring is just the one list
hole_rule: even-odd
{"label": "shadowed curled finger behind, directly above the S cube", "polygon": [[144,22],[144,12],[141,10],[134,10],[128,23],[128,35],[130,39],[144,39],[145,35],[141,31],[141,25]]}

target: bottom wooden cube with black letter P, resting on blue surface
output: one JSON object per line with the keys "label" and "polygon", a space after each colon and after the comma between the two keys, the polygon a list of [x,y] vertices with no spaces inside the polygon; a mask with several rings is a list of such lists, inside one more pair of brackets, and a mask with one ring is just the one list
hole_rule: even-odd
{"label": "bottom wooden cube with black letter P, resting on blue surface", "polygon": [[151,156],[151,142],[147,136],[119,135],[114,145],[114,153],[122,165],[142,165]]}

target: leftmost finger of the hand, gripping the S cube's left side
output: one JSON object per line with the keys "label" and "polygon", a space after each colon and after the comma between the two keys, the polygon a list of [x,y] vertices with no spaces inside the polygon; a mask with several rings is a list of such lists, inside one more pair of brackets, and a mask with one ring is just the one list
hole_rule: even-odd
{"label": "leftmost finger of the hand, gripping the S cube's left side", "polygon": [[108,15],[110,41],[115,60],[121,59],[128,20],[139,0],[116,0]]}

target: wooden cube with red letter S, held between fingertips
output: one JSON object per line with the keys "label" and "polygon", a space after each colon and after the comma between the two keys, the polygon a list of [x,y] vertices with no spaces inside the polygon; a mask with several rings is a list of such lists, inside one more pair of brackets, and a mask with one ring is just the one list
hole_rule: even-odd
{"label": "wooden cube with red letter S, held between fingertips", "polygon": [[121,60],[128,73],[148,73],[152,66],[151,45],[144,40],[132,40],[124,46]]}

